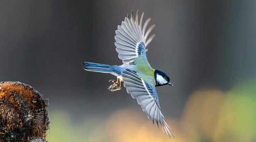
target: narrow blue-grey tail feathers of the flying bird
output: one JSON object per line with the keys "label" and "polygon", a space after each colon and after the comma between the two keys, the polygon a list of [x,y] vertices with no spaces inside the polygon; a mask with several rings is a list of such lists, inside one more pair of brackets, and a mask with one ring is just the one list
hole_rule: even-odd
{"label": "narrow blue-grey tail feathers of the flying bird", "polygon": [[101,73],[115,73],[115,69],[112,65],[104,65],[98,63],[83,62],[84,69],[93,72]]}

